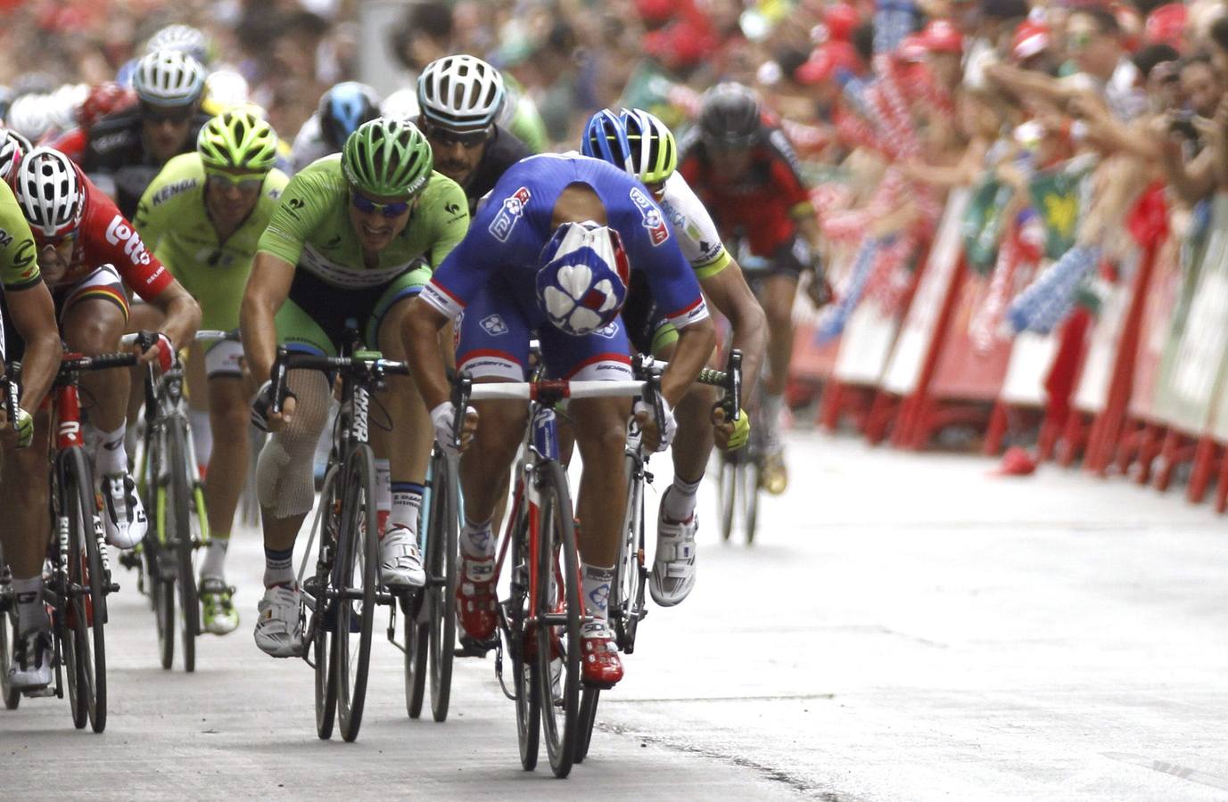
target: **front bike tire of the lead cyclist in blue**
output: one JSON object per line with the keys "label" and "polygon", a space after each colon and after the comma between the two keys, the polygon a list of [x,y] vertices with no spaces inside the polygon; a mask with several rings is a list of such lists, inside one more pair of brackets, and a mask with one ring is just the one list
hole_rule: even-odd
{"label": "front bike tire of the lead cyclist in blue", "polygon": [[[567,478],[559,464],[542,470],[538,515],[537,663],[542,693],[542,735],[554,776],[571,773],[580,732],[580,557]],[[558,548],[558,554],[555,553]],[[558,571],[555,565],[558,564]],[[546,622],[549,623],[543,625]],[[560,682],[554,687],[551,641],[558,638]]]}

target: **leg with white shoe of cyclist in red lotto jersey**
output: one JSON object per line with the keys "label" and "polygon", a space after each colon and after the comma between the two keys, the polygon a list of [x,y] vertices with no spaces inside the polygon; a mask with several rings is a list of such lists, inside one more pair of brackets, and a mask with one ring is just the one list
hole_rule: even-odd
{"label": "leg with white shoe of cyclist in red lotto jersey", "polygon": [[[70,351],[92,356],[119,351],[119,336],[128,324],[128,297],[119,273],[103,265],[68,291],[61,304],[60,329]],[[136,483],[128,472],[128,391],[124,370],[96,370],[81,376],[81,396],[90,423],[98,434],[95,467],[104,504],[107,541],[131,548],[145,537],[145,510]]]}

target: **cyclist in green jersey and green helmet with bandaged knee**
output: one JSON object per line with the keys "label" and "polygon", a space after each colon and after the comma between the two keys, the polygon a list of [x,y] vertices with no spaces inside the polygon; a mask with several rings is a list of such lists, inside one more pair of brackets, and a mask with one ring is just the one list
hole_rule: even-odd
{"label": "cyclist in green jersey and green helmet with bandaged knee", "polygon": [[[340,156],[313,162],[286,185],[260,238],[243,294],[243,351],[252,375],[268,379],[278,342],[335,354],[352,319],[370,346],[404,359],[402,320],[431,269],[460,242],[469,224],[464,193],[431,169],[431,147],[413,123],[378,118],[345,141]],[[438,348],[438,346],[435,346]],[[274,432],[257,464],[264,526],[264,598],[255,643],[274,656],[298,654],[300,592],[291,557],[312,508],[312,454],[325,424],[330,384],[323,373],[291,372],[280,414],[269,412],[265,381],[252,419]],[[382,395],[397,437],[373,432],[376,455],[391,460],[377,481],[377,509],[387,514],[381,579],[391,587],[425,582],[418,517],[430,456],[430,419],[413,384],[389,376]],[[391,495],[391,498],[389,498]]]}

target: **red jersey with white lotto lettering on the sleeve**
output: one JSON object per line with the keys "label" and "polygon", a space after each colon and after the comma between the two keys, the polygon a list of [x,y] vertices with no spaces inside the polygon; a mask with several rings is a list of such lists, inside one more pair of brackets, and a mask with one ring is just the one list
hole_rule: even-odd
{"label": "red jersey with white lotto lettering on the sleeve", "polygon": [[133,224],[119,213],[114,201],[93,185],[80,170],[77,177],[85,190],[85,208],[77,227],[72,261],[60,276],[47,280],[52,289],[75,285],[102,265],[115,270],[138,296],[152,300],[173,281],[171,273],[141,242]]}

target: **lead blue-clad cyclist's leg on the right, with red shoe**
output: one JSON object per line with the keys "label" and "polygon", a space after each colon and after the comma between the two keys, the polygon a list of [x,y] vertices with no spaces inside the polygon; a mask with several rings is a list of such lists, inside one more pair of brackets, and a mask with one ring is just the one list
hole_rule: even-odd
{"label": "lead blue-clad cyclist's leg on the right, with red shoe", "polygon": [[[580,381],[632,378],[628,357],[630,342],[621,320],[583,337],[549,327],[540,331],[540,337],[551,376]],[[607,617],[626,505],[623,453],[631,400],[572,399],[567,411],[575,422],[576,445],[585,464],[576,503],[576,540],[585,606],[593,621],[581,629],[583,674],[591,682],[609,686],[623,678],[623,663]]]}

